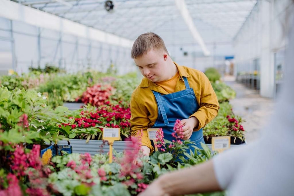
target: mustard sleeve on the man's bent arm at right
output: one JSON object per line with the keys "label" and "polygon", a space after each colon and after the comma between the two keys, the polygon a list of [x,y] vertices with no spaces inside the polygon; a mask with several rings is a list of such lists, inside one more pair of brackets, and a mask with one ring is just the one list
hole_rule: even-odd
{"label": "mustard sleeve on the man's bent arm at right", "polygon": [[207,123],[213,120],[218,114],[219,107],[218,98],[210,81],[204,73],[201,73],[199,77],[201,81],[200,108],[189,117],[197,118],[198,122],[196,122],[196,124],[198,123],[198,126],[196,126],[196,130],[203,128]]}

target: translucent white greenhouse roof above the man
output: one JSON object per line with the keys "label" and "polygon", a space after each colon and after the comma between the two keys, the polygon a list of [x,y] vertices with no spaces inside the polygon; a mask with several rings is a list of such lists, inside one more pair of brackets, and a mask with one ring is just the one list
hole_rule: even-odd
{"label": "translucent white greenhouse roof above the man", "polygon": [[[231,42],[257,2],[113,0],[113,10],[106,11],[105,0],[14,1],[131,40],[142,33],[153,31],[167,45],[193,46],[200,44],[196,38],[200,37],[204,47],[209,43]],[[179,3],[185,4],[186,10]],[[188,19],[191,19],[190,23]]]}

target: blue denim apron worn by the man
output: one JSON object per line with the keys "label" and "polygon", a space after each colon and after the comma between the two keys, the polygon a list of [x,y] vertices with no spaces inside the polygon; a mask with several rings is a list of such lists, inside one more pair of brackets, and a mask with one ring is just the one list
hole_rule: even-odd
{"label": "blue denim apron worn by the man", "polygon": [[[193,88],[190,88],[188,80],[183,77],[186,89],[175,93],[161,95],[152,91],[157,102],[158,118],[152,128],[162,128],[166,140],[174,140],[171,133],[176,120],[187,119],[199,109]],[[204,143],[202,129],[193,131],[190,140],[194,146],[201,148],[201,142]],[[182,140],[183,141],[183,140]],[[195,148],[190,147],[194,152]],[[190,154],[190,152],[188,152]]]}

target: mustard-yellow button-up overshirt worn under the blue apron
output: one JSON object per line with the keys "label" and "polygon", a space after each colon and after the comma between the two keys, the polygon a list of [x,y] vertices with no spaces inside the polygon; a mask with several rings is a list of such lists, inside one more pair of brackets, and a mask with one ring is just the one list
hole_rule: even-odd
{"label": "mustard-yellow button-up overshirt worn under the blue apron", "polygon": [[[185,82],[183,76],[187,77],[190,88],[193,88],[199,109],[191,114],[199,121],[198,127],[193,131],[203,128],[218,113],[218,99],[216,93],[213,91],[210,81],[204,73],[196,69],[179,66],[180,77],[177,80],[174,92],[185,90]],[[133,91],[131,96],[131,135],[136,136],[136,133],[143,129],[142,145],[148,146],[151,151],[153,147],[148,139],[147,129],[152,128],[158,117],[158,108],[156,99],[152,91],[157,91],[161,94],[168,94],[168,92],[161,86],[156,85],[147,78],[143,78],[141,84]]]}

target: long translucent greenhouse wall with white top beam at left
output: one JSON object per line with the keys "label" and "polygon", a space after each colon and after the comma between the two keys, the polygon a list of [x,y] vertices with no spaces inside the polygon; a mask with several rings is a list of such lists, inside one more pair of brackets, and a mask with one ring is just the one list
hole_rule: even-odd
{"label": "long translucent greenhouse wall with white top beam at left", "polygon": [[[1,3],[8,3],[5,6],[19,10],[13,16],[4,12],[0,14],[1,75],[6,75],[10,69],[25,73],[31,66],[43,68],[46,64],[58,66],[68,72],[85,69],[105,72],[111,64],[119,74],[136,70],[130,58],[130,40],[59,17],[56,19],[54,15],[12,1]],[[61,20],[66,25],[60,27],[59,31],[56,24],[44,25],[35,19],[38,17],[21,17],[29,16],[31,12],[38,13],[43,21]]]}

